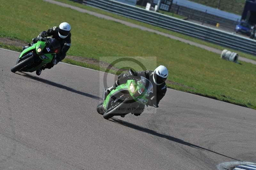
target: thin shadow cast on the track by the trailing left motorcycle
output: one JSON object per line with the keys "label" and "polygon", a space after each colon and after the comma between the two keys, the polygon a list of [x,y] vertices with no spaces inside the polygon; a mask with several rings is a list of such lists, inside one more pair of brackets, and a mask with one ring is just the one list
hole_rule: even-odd
{"label": "thin shadow cast on the track by the trailing left motorcycle", "polygon": [[58,84],[58,83],[55,83],[53,81],[49,81],[49,80],[45,80],[45,79],[42,79],[42,78],[39,78],[39,77],[36,77],[36,76],[33,76],[33,75],[30,75],[30,74],[27,74],[27,73],[24,73],[24,72],[21,72],[23,74],[19,74],[19,73],[16,73],[16,74],[19,74],[19,75],[22,75],[22,76],[25,76],[25,77],[28,77],[30,79],[33,79],[33,80],[36,80],[36,81],[40,81],[42,83],[45,83],[45,84],[49,84],[51,86],[54,86],[54,87],[58,87],[60,89],[66,89],[68,91],[71,91],[73,93],[77,93],[79,95],[83,95],[83,96],[86,96],[86,97],[91,97],[93,99],[96,99],[96,100],[102,100],[101,97],[98,97],[98,96],[94,96],[94,95],[91,95],[89,93],[84,93],[82,91],[78,91],[78,90],[75,90],[75,89],[72,89],[70,87],[67,87],[67,86],[64,86],[64,85],[61,85],[61,84]]}

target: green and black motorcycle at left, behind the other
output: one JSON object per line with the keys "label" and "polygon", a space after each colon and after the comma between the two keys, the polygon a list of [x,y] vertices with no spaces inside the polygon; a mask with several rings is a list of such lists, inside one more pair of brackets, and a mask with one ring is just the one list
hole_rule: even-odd
{"label": "green and black motorcycle at left, behind the other", "polygon": [[48,63],[56,64],[56,54],[60,52],[60,43],[54,38],[41,38],[37,43],[24,49],[11,71],[34,72]]}

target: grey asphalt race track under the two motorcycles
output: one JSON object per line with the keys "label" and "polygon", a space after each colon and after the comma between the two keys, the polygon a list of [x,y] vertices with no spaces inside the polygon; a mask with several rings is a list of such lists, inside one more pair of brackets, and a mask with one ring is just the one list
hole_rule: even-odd
{"label": "grey asphalt race track under the two motorcycles", "polygon": [[[102,72],[12,73],[0,49],[0,169],[217,169],[256,162],[256,111],[172,89],[155,113],[105,120]],[[113,83],[113,75],[109,77]]]}

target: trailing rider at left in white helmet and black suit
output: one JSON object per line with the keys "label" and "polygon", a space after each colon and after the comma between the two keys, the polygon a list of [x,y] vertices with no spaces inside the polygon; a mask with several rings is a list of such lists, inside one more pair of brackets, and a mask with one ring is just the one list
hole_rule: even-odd
{"label": "trailing rider at left in white helmet and black suit", "polygon": [[[33,45],[37,42],[38,39],[41,39],[42,37],[52,36],[52,38],[55,38],[60,43],[60,53],[57,54],[56,59],[52,63],[48,63],[44,68],[40,68],[36,71],[37,75],[40,75],[42,70],[45,68],[52,68],[54,65],[58,64],[61,60],[63,60],[66,57],[66,53],[68,49],[71,46],[71,26],[67,22],[62,22],[59,27],[52,27],[48,29],[47,31],[41,32],[36,38],[32,39],[32,42],[28,44],[29,46]],[[24,46],[23,50],[28,48],[29,46]]]}

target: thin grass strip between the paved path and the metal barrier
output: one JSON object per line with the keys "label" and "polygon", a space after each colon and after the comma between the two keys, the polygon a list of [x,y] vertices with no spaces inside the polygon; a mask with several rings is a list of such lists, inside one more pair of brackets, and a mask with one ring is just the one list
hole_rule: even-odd
{"label": "thin grass strip between the paved path and the metal barrier", "polygon": [[207,42],[207,41],[204,41],[204,40],[201,40],[201,39],[198,39],[198,38],[194,38],[194,37],[191,37],[191,36],[188,36],[188,35],[180,34],[180,33],[177,33],[177,32],[171,31],[171,30],[167,30],[167,29],[164,29],[164,28],[161,28],[161,27],[156,27],[156,26],[153,26],[153,25],[150,25],[150,24],[147,24],[147,23],[143,23],[143,22],[134,20],[134,19],[129,19],[129,18],[120,16],[120,15],[117,15],[117,14],[114,14],[114,13],[102,11],[102,10],[99,10],[97,8],[93,8],[93,7],[90,7],[90,6],[83,5],[83,4],[79,4],[79,3],[76,3],[76,2],[73,2],[73,1],[70,1],[70,0],[56,0],[56,1],[63,2],[63,3],[66,3],[66,4],[70,4],[70,5],[74,5],[74,6],[77,6],[77,7],[92,11],[92,12],[98,12],[98,13],[101,13],[101,14],[104,14],[104,15],[111,16],[111,17],[116,18],[116,19],[122,19],[124,21],[128,21],[128,22],[131,22],[131,23],[143,26],[143,27],[148,27],[148,28],[151,28],[151,29],[154,29],[154,30],[157,30],[157,31],[161,31],[161,32],[166,33],[166,34],[174,35],[174,36],[177,36],[177,37],[189,40],[189,41],[193,41],[195,43],[199,43],[199,44],[203,44],[203,45],[215,48],[215,49],[231,50],[231,51],[236,52],[237,54],[239,54],[239,56],[242,56],[242,57],[245,57],[245,58],[252,59],[252,60],[256,61],[256,56],[254,56],[254,55],[247,54],[247,53],[237,51],[237,50],[234,50],[234,49],[230,49],[228,47],[223,47],[223,46],[217,45],[215,43],[210,43],[210,42]]}

